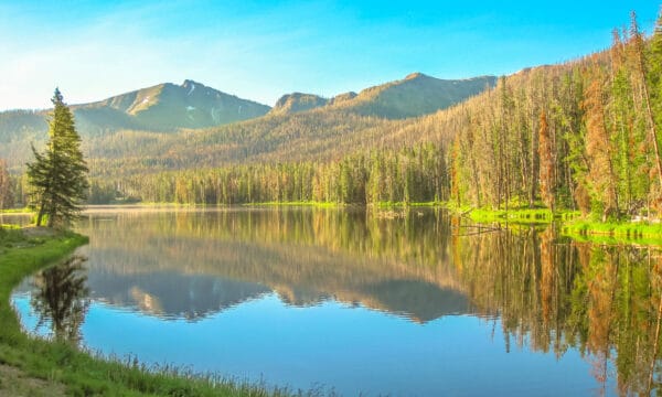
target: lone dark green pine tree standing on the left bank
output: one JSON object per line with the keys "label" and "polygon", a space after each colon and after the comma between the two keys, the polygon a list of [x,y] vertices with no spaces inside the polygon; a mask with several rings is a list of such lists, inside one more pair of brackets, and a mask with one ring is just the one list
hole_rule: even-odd
{"label": "lone dark green pine tree standing on the left bank", "polygon": [[49,227],[68,224],[79,213],[88,189],[87,165],[74,116],[60,89],[55,88],[52,101],[46,149],[39,153],[33,147],[34,162],[28,164],[33,187],[31,206],[39,211],[36,226],[42,225],[46,215]]}

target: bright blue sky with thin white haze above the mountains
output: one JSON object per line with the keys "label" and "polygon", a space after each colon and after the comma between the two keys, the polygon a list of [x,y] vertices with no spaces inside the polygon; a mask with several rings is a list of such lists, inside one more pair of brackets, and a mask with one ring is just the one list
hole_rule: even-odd
{"label": "bright blue sky with thin white haze above the mountains", "polygon": [[605,49],[660,1],[6,1],[0,110],[191,78],[274,105],[399,79],[503,75]]}

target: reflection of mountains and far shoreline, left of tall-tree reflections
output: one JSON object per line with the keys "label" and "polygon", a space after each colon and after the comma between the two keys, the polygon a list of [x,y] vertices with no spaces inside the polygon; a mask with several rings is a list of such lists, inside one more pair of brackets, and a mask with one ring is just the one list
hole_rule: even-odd
{"label": "reflection of mountains and far shoreline, left of tall-tree reflections", "polygon": [[196,320],[275,291],[290,305],[333,299],[418,322],[469,310],[439,249],[446,234],[430,233],[444,227],[431,213],[394,223],[301,208],[124,213],[82,225],[93,297],[116,305]]}

